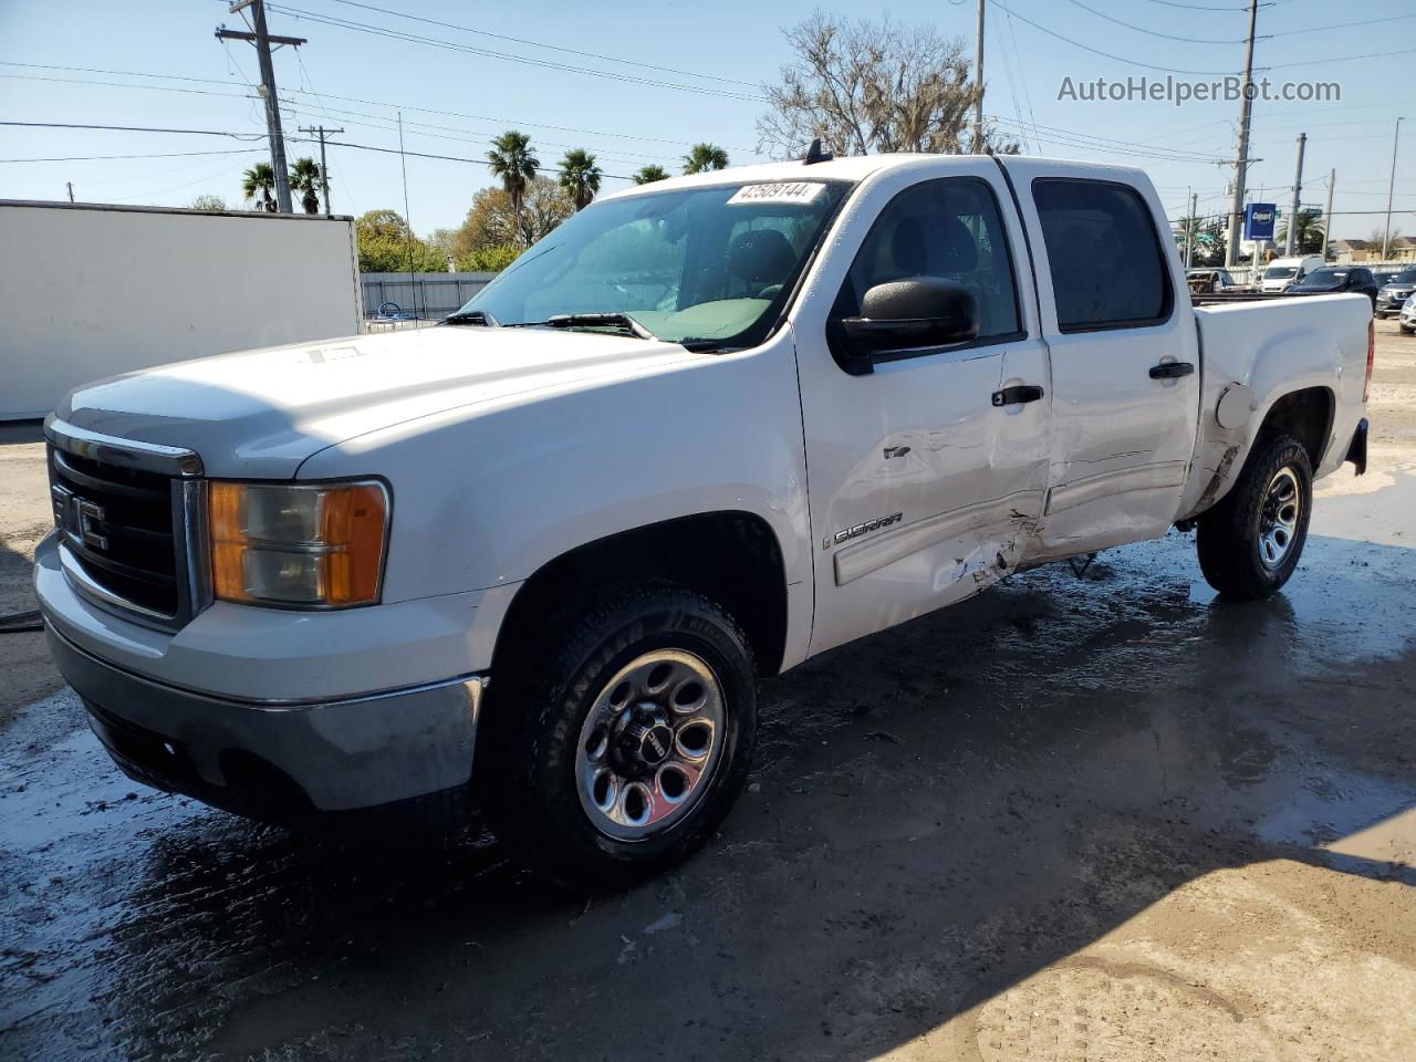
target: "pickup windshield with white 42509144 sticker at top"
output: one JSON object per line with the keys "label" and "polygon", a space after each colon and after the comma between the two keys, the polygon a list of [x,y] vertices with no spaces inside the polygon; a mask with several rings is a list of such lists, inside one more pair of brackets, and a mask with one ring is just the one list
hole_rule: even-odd
{"label": "pickup windshield with white 42509144 sticker at top", "polygon": [[[850,181],[725,184],[595,204],[525,251],[456,316],[480,313],[500,326],[562,317],[564,327],[566,314],[629,314],[671,343],[753,346],[850,188]],[[579,321],[572,317],[571,326]]]}

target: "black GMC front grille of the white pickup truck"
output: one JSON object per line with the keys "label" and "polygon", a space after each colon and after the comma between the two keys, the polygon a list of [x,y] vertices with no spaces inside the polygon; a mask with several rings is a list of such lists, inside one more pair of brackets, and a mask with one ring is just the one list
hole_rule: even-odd
{"label": "black GMC front grille of the white pickup truck", "polygon": [[[171,476],[50,445],[54,524],[92,588],[149,619],[183,612],[183,491]],[[82,586],[82,582],[81,582]]]}

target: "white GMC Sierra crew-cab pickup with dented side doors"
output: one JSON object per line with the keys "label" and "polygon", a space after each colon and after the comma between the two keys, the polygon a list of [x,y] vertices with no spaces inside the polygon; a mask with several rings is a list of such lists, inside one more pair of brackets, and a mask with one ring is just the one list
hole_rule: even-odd
{"label": "white GMC Sierra crew-cab pickup with dented side doors", "polygon": [[661,181],[445,326],[78,388],[35,588],[133,777],[285,818],[472,793],[616,885],[726,814],[759,675],[1175,524],[1273,593],[1365,466],[1371,319],[1195,309],[1129,169]]}

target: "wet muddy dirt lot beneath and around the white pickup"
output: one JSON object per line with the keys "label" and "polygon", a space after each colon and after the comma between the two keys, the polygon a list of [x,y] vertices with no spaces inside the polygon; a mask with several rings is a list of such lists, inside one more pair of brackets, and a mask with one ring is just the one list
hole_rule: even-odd
{"label": "wet muddy dirt lot beneath and around the white pickup", "polygon": [[[749,792],[588,903],[486,838],[300,840],[110,766],[0,636],[0,1055],[1416,1058],[1416,340],[1279,598],[1172,534],[765,688]],[[0,445],[0,612],[47,524]]]}

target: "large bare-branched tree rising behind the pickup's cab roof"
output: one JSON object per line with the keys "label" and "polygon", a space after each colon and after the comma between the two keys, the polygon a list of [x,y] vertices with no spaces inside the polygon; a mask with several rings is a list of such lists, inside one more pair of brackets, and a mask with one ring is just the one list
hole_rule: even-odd
{"label": "large bare-branched tree rising behind the pickup's cab roof", "polygon": [[[758,119],[759,150],[794,157],[816,137],[837,154],[967,150],[977,86],[961,38],[820,10],[783,33],[797,58],[780,85],[763,86],[772,109]],[[994,150],[1018,150],[990,133]]]}

